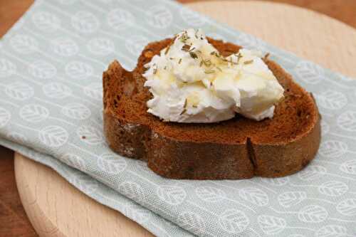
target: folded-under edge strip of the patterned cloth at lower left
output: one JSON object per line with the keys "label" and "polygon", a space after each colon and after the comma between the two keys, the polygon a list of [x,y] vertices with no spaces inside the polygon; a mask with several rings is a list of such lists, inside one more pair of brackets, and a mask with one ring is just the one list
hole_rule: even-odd
{"label": "folded-under edge strip of the patterned cloth at lower left", "polygon": [[[162,216],[155,214],[150,209],[146,209],[140,204],[137,204],[135,201],[132,201],[132,199],[127,199],[127,197],[122,196],[122,194],[111,189],[100,181],[97,181],[93,177],[90,177],[88,174],[80,172],[78,169],[69,167],[67,164],[58,161],[56,158],[51,157],[48,154],[36,152],[31,148],[21,146],[1,137],[0,144],[14,150],[15,152],[19,152],[19,154],[22,154],[28,159],[32,159],[35,162],[46,165],[46,167],[50,167],[83,194],[89,196],[95,201],[98,201],[98,203],[103,204],[104,206],[108,206],[115,211],[120,211],[122,215],[130,218],[136,223],[139,223],[140,226],[144,227],[155,236],[194,236],[192,233],[187,232],[175,223],[172,223]],[[80,185],[80,182],[77,181],[78,179],[85,179],[85,181],[91,182],[92,184],[98,183],[96,185],[98,188],[95,191],[93,191],[93,189],[85,189],[85,186]],[[105,196],[103,193],[108,195]],[[113,196],[116,199],[112,199],[110,196]],[[132,209],[135,211],[130,211]],[[151,219],[155,219],[155,223],[150,223],[147,221],[147,218],[139,218],[141,215],[137,215],[137,212],[146,214],[146,216],[152,216]]]}

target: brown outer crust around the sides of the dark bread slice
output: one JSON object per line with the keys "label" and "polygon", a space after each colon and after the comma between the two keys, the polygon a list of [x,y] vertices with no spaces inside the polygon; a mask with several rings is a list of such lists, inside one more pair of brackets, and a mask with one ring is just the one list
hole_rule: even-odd
{"label": "brown outer crust around the sides of the dark bread slice", "polygon": [[[225,50],[231,48],[231,51],[240,48],[210,38],[209,41],[218,50],[219,46],[224,46]],[[147,90],[143,88],[144,79],[139,78],[145,70],[142,65],[152,58],[152,48],[159,51],[171,42],[172,39],[166,39],[148,45],[142,51],[133,72],[128,72],[114,61],[103,73],[104,134],[114,152],[145,160],[153,172],[171,179],[284,177],[303,169],[315,157],[320,144],[320,115],[313,96],[304,90],[305,100],[310,100],[308,102],[312,103],[315,115],[311,116],[312,121],[308,122],[307,130],[286,141],[258,142],[250,137],[239,143],[182,140],[155,130],[150,123],[122,116],[123,112],[118,112],[120,107],[115,106],[117,93],[125,94],[128,91],[130,94],[135,93],[135,90]],[[282,73],[287,80],[293,81],[277,63],[267,58],[265,61],[273,72]],[[142,80],[139,86],[130,86],[130,83],[137,83],[137,80]],[[125,83],[125,89],[117,91],[117,85],[122,83]]]}

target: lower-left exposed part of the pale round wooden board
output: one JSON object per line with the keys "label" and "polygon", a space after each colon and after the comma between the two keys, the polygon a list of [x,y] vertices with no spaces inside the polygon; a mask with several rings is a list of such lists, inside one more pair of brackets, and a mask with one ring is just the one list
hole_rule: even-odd
{"label": "lower-left exposed part of the pale round wooden board", "polygon": [[21,201],[39,236],[153,236],[120,212],[85,196],[43,164],[16,153],[15,167]]}

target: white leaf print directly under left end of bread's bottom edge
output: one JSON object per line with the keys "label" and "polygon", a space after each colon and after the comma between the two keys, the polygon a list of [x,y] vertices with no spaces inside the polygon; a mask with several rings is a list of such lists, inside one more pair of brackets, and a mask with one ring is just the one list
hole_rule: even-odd
{"label": "white leaf print directly under left end of bread's bottom edge", "polygon": [[176,206],[182,204],[187,193],[181,186],[161,185],[157,187],[157,196],[165,203]]}

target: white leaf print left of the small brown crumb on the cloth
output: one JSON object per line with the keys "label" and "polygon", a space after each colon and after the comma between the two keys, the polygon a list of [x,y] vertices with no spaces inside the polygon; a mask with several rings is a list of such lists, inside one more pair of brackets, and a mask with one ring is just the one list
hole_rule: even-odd
{"label": "white leaf print left of the small brown crumb on the cloth", "polygon": [[68,140],[68,132],[63,127],[52,125],[38,132],[38,138],[48,147],[61,147]]}

